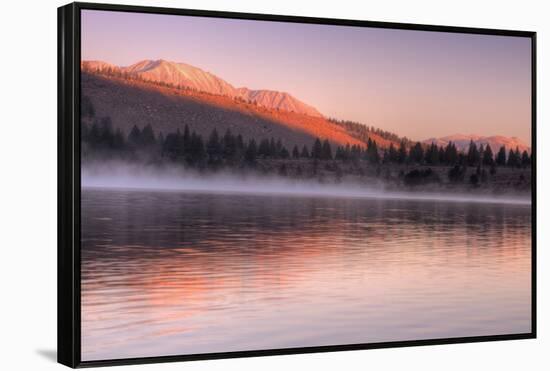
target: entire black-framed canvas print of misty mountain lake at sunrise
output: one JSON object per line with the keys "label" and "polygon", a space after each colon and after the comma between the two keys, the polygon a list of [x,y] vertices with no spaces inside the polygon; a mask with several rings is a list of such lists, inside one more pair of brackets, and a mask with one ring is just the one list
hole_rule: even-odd
{"label": "entire black-framed canvas print of misty mountain lake at sunrise", "polygon": [[534,32],[58,17],[59,362],[536,336]]}

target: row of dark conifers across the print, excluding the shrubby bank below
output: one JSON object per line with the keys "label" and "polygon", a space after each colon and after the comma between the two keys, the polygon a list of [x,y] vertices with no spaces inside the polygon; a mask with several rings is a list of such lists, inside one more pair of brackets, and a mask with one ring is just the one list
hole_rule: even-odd
{"label": "row of dark conifers across the print, excluding the shrubby bank below", "polygon": [[[93,117],[90,107],[83,101],[83,114]],[[415,164],[415,165],[446,165],[446,166],[508,166],[528,167],[531,156],[527,151],[520,153],[519,149],[510,149],[507,153],[502,146],[496,155],[490,145],[476,145],[470,142],[468,151],[459,151],[456,145],[449,142],[446,146],[432,143],[428,146],[417,142],[408,146],[401,141],[399,146],[390,144],[380,149],[376,141],[370,138],[366,146],[333,145],[328,139],[316,138],[311,146],[293,146],[288,149],[281,139],[263,138],[245,140],[241,134],[235,134],[227,129],[223,134],[213,129],[203,136],[190,130],[185,125],[183,132],[177,129],[166,136],[162,132],[156,134],[151,125],[139,128],[136,125],[125,135],[119,128],[114,128],[109,117],[94,119],[91,124],[82,123],[82,143],[91,152],[118,153],[153,153],[173,161],[184,161],[188,164],[206,164],[218,166],[234,165],[243,161],[249,164],[264,159],[312,159],[319,161],[336,160],[357,163],[366,161],[370,164]]]}

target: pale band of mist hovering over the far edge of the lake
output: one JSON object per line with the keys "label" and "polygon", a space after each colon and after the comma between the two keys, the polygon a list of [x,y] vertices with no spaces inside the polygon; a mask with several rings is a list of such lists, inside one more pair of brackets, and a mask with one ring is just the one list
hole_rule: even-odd
{"label": "pale band of mist hovering over the far edge of the lake", "polygon": [[83,188],[126,190],[158,190],[172,192],[238,193],[249,195],[285,195],[300,197],[343,197],[403,199],[441,202],[474,202],[530,205],[530,195],[489,195],[445,192],[427,192],[422,187],[414,191],[397,191],[385,187],[381,181],[370,184],[344,182],[320,183],[315,180],[291,179],[280,176],[235,174],[228,171],[200,173],[178,166],[144,166],[121,162],[101,165],[83,165]]}

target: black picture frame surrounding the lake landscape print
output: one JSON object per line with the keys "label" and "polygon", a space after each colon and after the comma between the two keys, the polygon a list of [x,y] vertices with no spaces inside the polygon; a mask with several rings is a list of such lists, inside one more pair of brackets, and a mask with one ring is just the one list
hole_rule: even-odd
{"label": "black picture frame surrounding the lake landscape print", "polygon": [[[80,354],[80,12],[84,9],[139,12],[213,18],[279,21],[403,30],[442,31],[525,37],[531,40],[531,125],[532,125],[532,261],[531,332],[453,337],[444,339],[342,344],[285,349],[159,356],[81,361]],[[191,361],[234,357],[270,356],[297,353],[333,352],[388,347],[440,345],[466,342],[532,339],[537,334],[537,254],[536,254],[536,32],[501,29],[450,27],[407,23],[372,22],[345,19],[249,14],[95,3],[71,3],[58,8],[58,362],[69,367],[129,365],[156,362]]]}

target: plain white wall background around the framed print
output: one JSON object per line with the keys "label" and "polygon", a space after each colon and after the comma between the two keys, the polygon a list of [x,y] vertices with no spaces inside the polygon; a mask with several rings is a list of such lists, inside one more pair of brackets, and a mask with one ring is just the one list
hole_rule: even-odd
{"label": "plain white wall background around the framed print", "polygon": [[[111,2],[104,0],[104,2]],[[548,369],[550,22],[530,0],[120,0],[120,3],[538,32],[537,340],[133,366],[140,370]],[[56,7],[2,4],[0,21],[0,369],[50,370],[56,349]],[[21,138],[21,139],[19,139]],[[544,364],[546,363],[546,366]]]}

